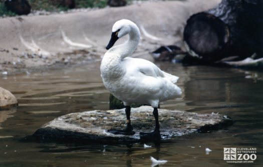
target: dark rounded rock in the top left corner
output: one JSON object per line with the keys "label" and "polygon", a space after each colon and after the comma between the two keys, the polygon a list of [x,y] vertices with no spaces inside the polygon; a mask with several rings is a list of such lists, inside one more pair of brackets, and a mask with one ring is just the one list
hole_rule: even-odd
{"label": "dark rounded rock in the top left corner", "polygon": [[29,14],[31,12],[31,5],[27,0],[6,0],[5,5],[8,10],[18,15]]}

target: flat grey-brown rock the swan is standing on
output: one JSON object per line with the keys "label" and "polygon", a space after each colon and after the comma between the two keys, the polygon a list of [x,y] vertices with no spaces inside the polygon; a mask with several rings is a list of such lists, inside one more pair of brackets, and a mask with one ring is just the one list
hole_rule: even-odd
{"label": "flat grey-brown rock the swan is standing on", "polygon": [[[131,108],[134,135],[107,132],[108,129],[125,127],[124,109],[92,110],[60,116],[40,127],[33,136],[45,141],[104,143],[139,142],[140,132],[154,129],[152,107]],[[179,110],[159,109],[161,138],[185,135],[193,132],[207,132],[232,124],[232,119],[220,114],[198,114]]]}

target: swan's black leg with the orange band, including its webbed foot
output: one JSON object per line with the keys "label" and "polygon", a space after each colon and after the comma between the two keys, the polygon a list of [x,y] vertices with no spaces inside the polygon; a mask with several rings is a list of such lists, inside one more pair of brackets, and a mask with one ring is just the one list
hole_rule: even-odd
{"label": "swan's black leg with the orange band, including its webbed foot", "polygon": [[117,130],[117,129],[111,129],[108,130],[108,132],[111,132],[113,134],[123,134],[123,135],[133,135],[135,132],[132,131],[133,127],[131,125],[131,119],[130,119],[130,115],[131,115],[131,106],[125,106],[125,113],[126,113],[126,118],[127,118],[127,126],[125,129],[123,130]]}

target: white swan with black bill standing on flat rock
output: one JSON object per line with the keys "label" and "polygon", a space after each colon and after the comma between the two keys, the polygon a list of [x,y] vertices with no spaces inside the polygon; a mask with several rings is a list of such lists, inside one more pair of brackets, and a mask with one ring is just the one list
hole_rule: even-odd
{"label": "white swan with black bill standing on flat rock", "polygon": [[[113,46],[120,37],[129,34],[129,39],[120,45]],[[181,89],[174,83],[179,77],[168,74],[154,63],[127,57],[136,49],[140,40],[138,26],[127,19],[121,19],[112,27],[112,35],[107,45],[109,49],[101,61],[101,77],[105,87],[123,101],[126,109],[127,127],[124,130],[108,130],[115,134],[134,134],[130,121],[130,104],[132,102],[150,104],[154,110],[155,130],[152,133],[141,133],[142,136],[158,135],[158,105],[160,101],[179,97]],[[112,47],[113,46],[113,47]]]}

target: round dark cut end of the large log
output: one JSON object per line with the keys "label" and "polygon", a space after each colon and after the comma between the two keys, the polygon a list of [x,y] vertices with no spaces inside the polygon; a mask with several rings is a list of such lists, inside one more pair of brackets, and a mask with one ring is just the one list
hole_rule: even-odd
{"label": "round dark cut end of the large log", "polygon": [[200,12],[187,20],[184,40],[196,54],[212,56],[227,46],[230,40],[229,29],[218,17]]}

